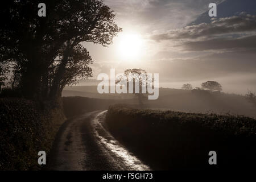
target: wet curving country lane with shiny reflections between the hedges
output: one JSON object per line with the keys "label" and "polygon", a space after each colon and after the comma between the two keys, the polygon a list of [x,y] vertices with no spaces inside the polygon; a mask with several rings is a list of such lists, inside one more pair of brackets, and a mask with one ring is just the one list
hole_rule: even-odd
{"label": "wet curving country lane with shiny reflections between the hedges", "polygon": [[150,170],[105,129],[105,114],[93,111],[64,123],[47,169]]}

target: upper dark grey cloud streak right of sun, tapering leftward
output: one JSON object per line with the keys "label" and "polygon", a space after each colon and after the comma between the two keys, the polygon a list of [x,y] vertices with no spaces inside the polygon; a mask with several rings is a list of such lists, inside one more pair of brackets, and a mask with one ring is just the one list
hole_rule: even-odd
{"label": "upper dark grey cloud streak right of sun, tapering leftward", "polygon": [[152,35],[151,39],[159,42],[161,40],[212,38],[214,35],[255,32],[255,30],[256,16],[241,14],[240,16],[212,19],[210,23],[186,26],[177,30],[171,30],[166,34]]}

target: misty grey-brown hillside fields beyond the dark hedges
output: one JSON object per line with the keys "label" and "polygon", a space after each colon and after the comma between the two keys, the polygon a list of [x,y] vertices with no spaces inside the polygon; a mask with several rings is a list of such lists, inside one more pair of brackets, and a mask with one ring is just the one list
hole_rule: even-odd
{"label": "misty grey-brown hillside fields beyond the dark hedges", "polygon": [[[67,87],[63,90],[63,96],[110,99],[118,100],[119,103],[125,103],[127,99],[132,99],[138,104],[138,98],[134,94],[99,94],[97,86]],[[171,109],[194,113],[230,113],[256,117],[256,108],[246,100],[245,96],[237,94],[159,88],[158,100],[145,98],[143,102],[144,108],[151,109]]]}

